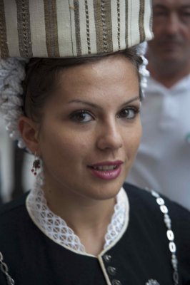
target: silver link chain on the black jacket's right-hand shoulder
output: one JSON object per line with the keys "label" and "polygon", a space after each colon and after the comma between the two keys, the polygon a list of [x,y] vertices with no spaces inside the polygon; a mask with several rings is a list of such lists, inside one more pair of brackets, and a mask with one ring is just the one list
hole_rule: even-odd
{"label": "silver link chain on the black jacket's right-hand shoulder", "polygon": [[164,199],[160,197],[159,193],[155,192],[154,190],[151,190],[151,195],[156,198],[156,203],[159,205],[162,214],[164,214],[164,223],[167,228],[166,236],[167,239],[169,240],[169,251],[171,252],[171,266],[174,270],[173,280],[174,280],[174,285],[178,285],[179,284],[178,260],[176,257],[176,244],[174,242],[174,232],[171,229],[171,219],[168,214],[169,210],[165,205]]}

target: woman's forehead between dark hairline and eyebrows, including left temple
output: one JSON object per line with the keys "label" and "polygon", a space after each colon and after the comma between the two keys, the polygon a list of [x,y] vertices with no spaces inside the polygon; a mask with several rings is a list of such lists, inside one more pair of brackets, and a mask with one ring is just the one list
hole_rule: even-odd
{"label": "woman's forehead between dark hairline and eyebrows, including left temple", "polygon": [[58,89],[49,96],[44,113],[56,114],[70,103],[88,102],[118,108],[134,96],[139,97],[136,68],[124,56],[109,56],[101,61],[72,66],[60,73]]}

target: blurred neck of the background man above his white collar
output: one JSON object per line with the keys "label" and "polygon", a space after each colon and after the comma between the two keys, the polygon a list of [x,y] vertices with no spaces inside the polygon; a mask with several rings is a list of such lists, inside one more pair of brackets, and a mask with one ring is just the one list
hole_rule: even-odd
{"label": "blurred neck of the background man above his white collar", "polygon": [[151,76],[166,88],[171,88],[181,79],[189,75],[190,63],[176,65],[176,63],[162,63],[149,59],[148,69]]}

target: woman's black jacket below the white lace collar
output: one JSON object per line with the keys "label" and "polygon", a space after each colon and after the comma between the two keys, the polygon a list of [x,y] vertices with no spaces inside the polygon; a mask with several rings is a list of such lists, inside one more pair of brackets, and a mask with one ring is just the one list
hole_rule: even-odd
{"label": "woman's black jacket below the white lace collar", "polygon": [[[46,237],[26,211],[26,195],[3,205],[0,252],[15,285],[174,284],[166,226],[156,199],[132,185],[124,188],[129,226],[119,242],[98,258],[76,254]],[[190,212],[164,199],[175,234],[179,284],[190,285]],[[151,279],[159,283],[150,283]],[[6,285],[1,271],[0,284]]]}

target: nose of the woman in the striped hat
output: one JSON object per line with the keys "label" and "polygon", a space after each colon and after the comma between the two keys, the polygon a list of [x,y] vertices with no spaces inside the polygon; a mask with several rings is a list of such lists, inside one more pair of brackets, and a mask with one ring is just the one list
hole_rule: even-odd
{"label": "nose of the woman in the striped hat", "polygon": [[118,150],[122,145],[121,126],[116,121],[101,124],[97,139],[99,150]]}

